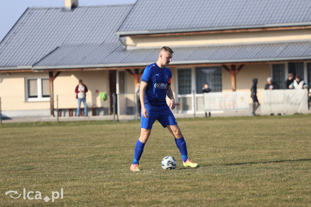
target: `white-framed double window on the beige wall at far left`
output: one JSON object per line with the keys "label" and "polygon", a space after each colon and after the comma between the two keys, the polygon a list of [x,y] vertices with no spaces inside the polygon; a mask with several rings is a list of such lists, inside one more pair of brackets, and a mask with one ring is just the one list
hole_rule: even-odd
{"label": "white-framed double window on the beige wall at far left", "polygon": [[27,101],[49,101],[50,88],[47,78],[29,78],[26,81]]}

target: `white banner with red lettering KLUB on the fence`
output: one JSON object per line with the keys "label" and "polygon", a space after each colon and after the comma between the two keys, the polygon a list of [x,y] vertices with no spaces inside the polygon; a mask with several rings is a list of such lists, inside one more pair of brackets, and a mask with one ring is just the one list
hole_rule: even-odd
{"label": "white banner with red lettering KLUB on the fence", "polygon": [[203,93],[204,110],[247,110],[248,92]]}

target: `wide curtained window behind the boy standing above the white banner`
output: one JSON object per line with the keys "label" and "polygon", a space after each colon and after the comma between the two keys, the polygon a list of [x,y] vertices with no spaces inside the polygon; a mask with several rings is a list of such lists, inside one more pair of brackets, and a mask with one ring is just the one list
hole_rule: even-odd
{"label": "wide curtained window behind the boy standing above the white banner", "polygon": [[197,94],[202,94],[202,87],[205,83],[208,83],[212,92],[222,91],[222,73],[221,66],[215,67],[196,67],[196,89]]}

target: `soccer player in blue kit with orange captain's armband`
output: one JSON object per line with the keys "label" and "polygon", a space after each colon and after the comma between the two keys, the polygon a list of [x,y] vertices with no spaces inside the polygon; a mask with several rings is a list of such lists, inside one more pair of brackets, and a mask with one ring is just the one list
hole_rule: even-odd
{"label": "soccer player in blue kit with orange captain's armband", "polygon": [[[130,168],[134,172],[140,171],[138,162],[150,136],[152,125],[156,120],[174,135],[183,159],[183,166],[195,168],[199,165],[188,159],[186,141],[171,111],[175,108],[175,99],[171,89],[172,72],[166,66],[172,61],[172,55],[171,48],[161,48],[158,61],[147,66],[142,74],[139,91],[142,104],[141,134],[135,146],[134,161]],[[166,103],[166,96],[170,99],[169,106]]]}

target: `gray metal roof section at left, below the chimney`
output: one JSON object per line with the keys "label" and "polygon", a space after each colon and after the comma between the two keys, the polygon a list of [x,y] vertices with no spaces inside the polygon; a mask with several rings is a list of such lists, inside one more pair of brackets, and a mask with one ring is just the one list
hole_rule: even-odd
{"label": "gray metal roof section at left, below the chimney", "polygon": [[0,43],[0,68],[31,66],[58,47],[117,44],[132,6],[28,8]]}

